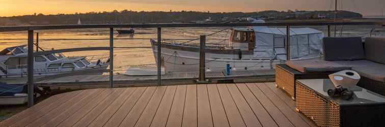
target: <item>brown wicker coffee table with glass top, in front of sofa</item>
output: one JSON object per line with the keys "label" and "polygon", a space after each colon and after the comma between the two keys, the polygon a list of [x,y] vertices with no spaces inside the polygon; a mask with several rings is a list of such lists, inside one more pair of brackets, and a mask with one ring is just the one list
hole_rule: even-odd
{"label": "brown wicker coffee table with glass top, in front of sofa", "polygon": [[296,80],[296,110],[319,126],[385,126],[385,97],[355,86],[351,100],[332,98],[329,79]]}

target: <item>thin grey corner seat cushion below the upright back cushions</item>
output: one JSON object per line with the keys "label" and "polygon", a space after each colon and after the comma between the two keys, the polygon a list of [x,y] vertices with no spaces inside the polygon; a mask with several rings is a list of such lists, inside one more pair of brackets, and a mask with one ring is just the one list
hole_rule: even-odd
{"label": "thin grey corner seat cushion below the upright back cushions", "polygon": [[381,63],[369,61],[369,60],[341,60],[341,61],[333,61],[343,66],[348,67],[374,67],[374,66],[382,66]]}

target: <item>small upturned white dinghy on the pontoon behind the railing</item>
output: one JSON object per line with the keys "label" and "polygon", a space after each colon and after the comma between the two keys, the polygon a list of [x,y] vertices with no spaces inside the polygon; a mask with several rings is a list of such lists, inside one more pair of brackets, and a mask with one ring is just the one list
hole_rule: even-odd
{"label": "small upturned white dinghy on the pontoon behind the railing", "polygon": [[[130,67],[124,75],[128,76],[154,76],[158,74],[156,67]],[[161,69],[161,75],[166,74],[164,68]]]}

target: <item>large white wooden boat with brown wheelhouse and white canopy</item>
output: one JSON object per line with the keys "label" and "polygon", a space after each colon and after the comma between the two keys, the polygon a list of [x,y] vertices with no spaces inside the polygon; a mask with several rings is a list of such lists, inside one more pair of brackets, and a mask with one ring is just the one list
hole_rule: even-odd
{"label": "large white wooden boat with brown wheelhouse and white canopy", "polygon": [[[264,22],[257,20],[255,22]],[[304,60],[322,56],[322,31],[312,28],[290,29],[290,58]],[[157,61],[157,42],[150,40]],[[254,26],[234,28],[229,44],[206,45],[206,71],[273,69],[286,61],[286,28]],[[199,44],[161,42],[161,65],[168,72],[198,72]]]}

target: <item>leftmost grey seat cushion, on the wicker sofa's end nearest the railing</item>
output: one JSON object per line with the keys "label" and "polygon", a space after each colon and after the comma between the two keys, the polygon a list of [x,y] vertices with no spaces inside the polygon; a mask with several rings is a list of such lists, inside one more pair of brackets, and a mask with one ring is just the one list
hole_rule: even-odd
{"label": "leftmost grey seat cushion, on the wicker sofa's end nearest the railing", "polygon": [[350,67],[324,60],[289,60],[286,65],[302,73],[322,73],[350,70]]}

